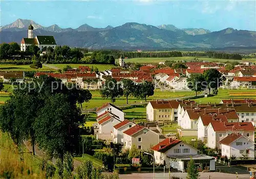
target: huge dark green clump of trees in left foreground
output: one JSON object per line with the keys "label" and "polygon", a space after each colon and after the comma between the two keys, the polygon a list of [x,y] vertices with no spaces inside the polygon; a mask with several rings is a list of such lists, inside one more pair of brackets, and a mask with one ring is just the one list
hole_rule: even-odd
{"label": "huge dark green clump of trees in left foreground", "polygon": [[[79,146],[79,125],[84,123],[77,103],[90,100],[89,90],[65,86],[46,75],[20,84],[0,108],[0,129],[20,145],[35,144],[63,163],[63,156],[74,154]],[[88,98],[89,96],[89,98]]]}

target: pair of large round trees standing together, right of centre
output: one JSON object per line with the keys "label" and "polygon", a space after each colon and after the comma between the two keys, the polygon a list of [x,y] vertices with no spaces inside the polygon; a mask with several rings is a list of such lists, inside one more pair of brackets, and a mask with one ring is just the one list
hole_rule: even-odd
{"label": "pair of large round trees standing together, right of centre", "polygon": [[188,88],[195,91],[197,96],[197,92],[204,91],[206,88],[208,88],[209,94],[212,88],[216,93],[223,80],[222,74],[217,69],[208,69],[203,74],[191,74],[187,82]]}

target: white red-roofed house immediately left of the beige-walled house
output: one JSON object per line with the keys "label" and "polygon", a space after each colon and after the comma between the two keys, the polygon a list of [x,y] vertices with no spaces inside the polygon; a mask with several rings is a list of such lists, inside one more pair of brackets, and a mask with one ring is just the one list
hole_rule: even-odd
{"label": "white red-roofed house immediately left of the beige-walled house", "polygon": [[128,129],[130,129],[131,127],[133,127],[135,125],[136,125],[135,123],[133,123],[132,121],[127,120],[127,119],[114,125],[114,132],[112,134],[113,142],[123,144],[123,142],[122,142],[123,132],[127,131]]}

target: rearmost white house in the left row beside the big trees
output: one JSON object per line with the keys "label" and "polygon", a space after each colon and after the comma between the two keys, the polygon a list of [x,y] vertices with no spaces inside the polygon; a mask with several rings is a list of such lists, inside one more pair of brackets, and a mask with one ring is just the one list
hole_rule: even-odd
{"label": "rearmost white house in the left row beside the big trees", "polygon": [[124,120],[125,113],[120,108],[116,107],[115,105],[112,105],[111,103],[106,103],[103,106],[97,108],[96,113],[98,116],[100,116],[101,114],[105,113],[106,111],[109,111],[112,114],[118,116],[120,121]]}

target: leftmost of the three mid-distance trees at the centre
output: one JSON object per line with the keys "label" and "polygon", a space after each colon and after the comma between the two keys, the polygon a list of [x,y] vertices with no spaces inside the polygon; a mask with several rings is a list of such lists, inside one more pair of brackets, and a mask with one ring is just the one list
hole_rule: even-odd
{"label": "leftmost of the three mid-distance trees at the centre", "polygon": [[115,79],[108,79],[105,81],[104,88],[100,90],[100,94],[103,98],[111,98],[111,102],[114,104],[116,98],[123,95],[123,90]]}

